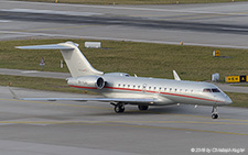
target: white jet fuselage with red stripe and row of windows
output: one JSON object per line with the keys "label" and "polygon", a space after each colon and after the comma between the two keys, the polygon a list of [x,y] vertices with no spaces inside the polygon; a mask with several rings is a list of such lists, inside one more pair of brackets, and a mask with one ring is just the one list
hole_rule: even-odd
{"label": "white jet fuselage with red stripe and row of windows", "polygon": [[226,106],[231,103],[227,95],[208,82],[131,77],[122,73],[105,74],[101,77],[106,81],[103,89],[88,87],[78,80],[68,80],[68,85],[101,93],[107,98],[154,99],[154,102],[149,103],[149,106],[175,103]]}

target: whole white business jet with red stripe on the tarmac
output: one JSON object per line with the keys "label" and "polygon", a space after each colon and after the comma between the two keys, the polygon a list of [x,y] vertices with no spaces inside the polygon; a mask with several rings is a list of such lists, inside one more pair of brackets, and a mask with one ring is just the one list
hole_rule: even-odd
{"label": "whole white business jet with red stripe on the tarmac", "polygon": [[130,76],[126,73],[103,73],[96,70],[73,42],[17,46],[21,49],[60,49],[69,69],[72,78],[67,78],[69,87],[90,90],[104,98],[19,98],[11,89],[14,99],[20,100],[74,100],[110,102],[116,113],[125,111],[125,106],[138,106],[141,111],[150,106],[194,104],[211,106],[212,118],[217,119],[217,107],[230,104],[233,101],[218,87],[208,82],[181,80],[175,70],[174,79],[160,79]]}

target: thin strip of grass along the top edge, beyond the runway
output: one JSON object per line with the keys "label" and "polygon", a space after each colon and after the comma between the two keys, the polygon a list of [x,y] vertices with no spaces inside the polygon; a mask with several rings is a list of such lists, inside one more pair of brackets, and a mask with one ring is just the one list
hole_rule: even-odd
{"label": "thin strip of grass along the top edge, beyond the runway", "polygon": [[[56,0],[22,0],[55,2]],[[247,0],[57,0],[61,3],[87,3],[87,4],[174,4],[174,3],[216,3]]]}

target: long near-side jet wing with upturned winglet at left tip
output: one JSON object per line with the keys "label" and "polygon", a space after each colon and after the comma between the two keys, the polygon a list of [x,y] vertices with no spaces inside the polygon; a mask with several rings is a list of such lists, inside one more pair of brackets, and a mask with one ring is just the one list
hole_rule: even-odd
{"label": "long near-side jet wing with upturned winglet at left tip", "polygon": [[153,103],[154,99],[137,99],[137,98],[19,98],[13,90],[10,89],[13,99],[25,101],[103,101],[103,102],[127,102],[127,103]]}

